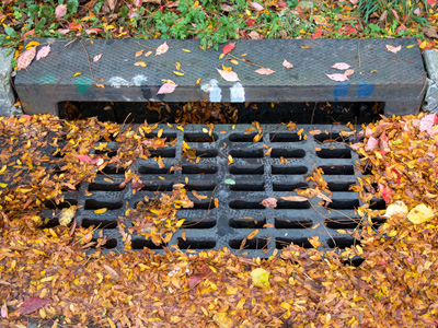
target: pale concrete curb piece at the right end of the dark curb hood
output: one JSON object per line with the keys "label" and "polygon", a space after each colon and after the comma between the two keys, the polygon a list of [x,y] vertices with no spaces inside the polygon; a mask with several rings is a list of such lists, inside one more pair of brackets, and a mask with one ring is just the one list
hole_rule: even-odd
{"label": "pale concrete curb piece at the right end of the dark curb hood", "polygon": [[428,75],[423,109],[438,114],[438,51],[426,50],[423,58]]}

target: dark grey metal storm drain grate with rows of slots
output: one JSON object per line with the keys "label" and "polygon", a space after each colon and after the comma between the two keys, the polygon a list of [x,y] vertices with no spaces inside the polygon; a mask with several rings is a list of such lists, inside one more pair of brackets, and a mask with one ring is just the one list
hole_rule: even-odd
{"label": "dark grey metal storm drain grate with rows of slots", "polygon": [[[162,137],[175,140],[174,147],[151,149],[154,159],[132,164],[130,169],[135,169],[145,184],[140,191],[132,195],[129,184],[120,188],[125,171],[107,166],[93,183],[81,184],[78,191],[65,192],[65,202],[47,206],[50,209],[79,206],[78,224],[99,226],[95,238],[105,236],[107,249],[123,251],[117,218],[124,216],[128,208],[134,209],[145,196],[154,199],[160,194],[169,194],[175,184],[184,184],[195,206],[177,212],[177,218],[186,221],[165,246],[177,244],[181,249],[195,250],[227,246],[240,255],[268,257],[275,248],[290,243],[312,247],[308,238],[314,236],[320,237],[325,249],[356,243],[350,235],[337,232],[358,226],[360,216],[355,209],[361,204],[358,195],[349,191],[361,175],[355,167],[358,156],[343,142],[348,139],[339,136],[339,127],[318,126],[322,131],[318,136],[308,133],[315,129],[311,126],[298,126],[293,131],[285,125],[261,128],[263,137],[254,142],[257,131],[249,125],[216,126],[211,136],[204,132],[206,126],[185,126],[184,131],[159,126],[155,131],[163,129]],[[303,129],[301,136],[307,134],[306,140],[297,133],[300,129]],[[196,151],[196,160],[183,156],[183,142]],[[95,152],[112,156],[117,143],[110,142],[106,148],[111,151]],[[269,148],[270,153],[266,154]],[[230,165],[229,155],[233,159]],[[164,166],[159,166],[158,156],[162,157]],[[171,171],[172,166],[181,169]],[[298,188],[310,187],[307,177],[316,167],[323,169],[324,180],[333,191],[333,202],[327,208],[321,207],[318,198],[309,202],[280,199],[297,195]],[[235,184],[227,184],[227,179]],[[91,195],[87,196],[85,189]],[[199,200],[192,191],[207,198]],[[261,204],[268,197],[278,199],[275,209]],[[219,200],[218,208],[215,208],[215,198]],[[96,214],[94,210],[101,208],[107,211]],[[53,223],[56,222],[57,219],[53,219]],[[129,226],[130,223],[125,224]],[[258,230],[256,236],[246,239],[255,230]],[[162,246],[142,236],[134,235],[131,242],[132,249],[148,247],[163,251]]]}

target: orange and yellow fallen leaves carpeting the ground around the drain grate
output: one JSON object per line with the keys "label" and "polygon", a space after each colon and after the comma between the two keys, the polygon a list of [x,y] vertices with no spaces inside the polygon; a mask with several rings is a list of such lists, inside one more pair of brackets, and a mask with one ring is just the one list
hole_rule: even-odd
{"label": "orange and yellow fallen leaves carpeting the ground around the drain grate", "polygon": [[[129,165],[172,145],[145,137],[155,128],[47,115],[0,119],[1,325],[26,327],[32,318],[48,327],[438,326],[436,115],[382,118],[357,132],[362,141],[351,148],[368,175],[355,189],[388,208],[359,208],[369,222],[354,233],[360,245],[339,251],[290,245],[264,260],[226,248],[103,251],[93,226],[77,226],[73,206],[61,211],[59,225],[41,227],[46,200],[61,201],[62,190],[92,181],[106,165],[124,167],[123,184],[141,188]],[[91,154],[100,140],[122,148],[112,157]],[[47,147],[53,153],[44,153]],[[181,226],[176,211],[192,206],[181,185],[119,218],[118,230],[129,244],[123,221],[137,218],[137,232],[159,243]],[[376,218],[387,221],[377,227]],[[348,265],[357,256],[364,262]]]}

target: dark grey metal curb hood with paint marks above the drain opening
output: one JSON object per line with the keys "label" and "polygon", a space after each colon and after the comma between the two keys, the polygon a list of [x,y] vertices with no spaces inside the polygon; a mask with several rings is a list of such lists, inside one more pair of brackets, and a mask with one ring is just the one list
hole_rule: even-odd
{"label": "dark grey metal curb hood with paint marks above the drain opening", "polygon": [[[384,102],[385,115],[415,114],[426,90],[422,55],[414,38],[404,39],[287,39],[238,40],[232,55],[251,60],[234,66],[220,60],[218,51],[199,49],[197,40],[168,40],[161,56],[135,58],[155,49],[164,40],[94,39],[66,45],[71,39],[38,39],[50,44],[47,58],[32,62],[18,73],[15,86],[27,114],[58,114],[57,104],[78,102]],[[385,46],[402,46],[396,54]],[[91,69],[85,50],[91,60]],[[185,50],[189,50],[185,51]],[[102,58],[92,62],[94,56]],[[243,54],[247,54],[242,57]],[[284,59],[293,69],[283,67]],[[143,61],[147,67],[135,66]],[[181,63],[184,77],[173,73]],[[325,74],[343,73],[335,62],[350,65],[349,81],[335,82]],[[227,82],[217,69],[233,67],[240,81]],[[255,73],[260,67],[275,71]],[[81,74],[73,77],[77,72]],[[162,80],[178,86],[157,95]],[[196,81],[200,79],[200,84]],[[103,84],[99,87],[95,83]]]}

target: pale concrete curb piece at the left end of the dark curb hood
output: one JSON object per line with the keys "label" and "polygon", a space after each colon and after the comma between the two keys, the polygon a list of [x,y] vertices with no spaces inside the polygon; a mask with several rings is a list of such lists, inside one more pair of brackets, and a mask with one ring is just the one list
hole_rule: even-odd
{"label": "pale concrete curb piece at the left end of the dark curb hood", "polygon": [[18,115],[21,110],[15,108],[15,97],[11,86],[11,71],[13,51],[7,56],[8,49],[0,48],[0,116]]}

